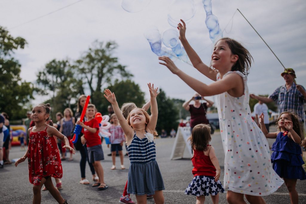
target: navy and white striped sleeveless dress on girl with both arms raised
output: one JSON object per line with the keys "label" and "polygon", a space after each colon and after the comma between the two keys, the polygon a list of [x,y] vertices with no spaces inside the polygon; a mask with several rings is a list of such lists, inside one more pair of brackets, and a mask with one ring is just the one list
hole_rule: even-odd
{"label": "navy and white striped sleeveless dress on girl with both arms raised", "polygon": [[139,139],[135,132],[128,153],[128,194],[154,195],[155,191],[165,190],[162,174],[155,159],[155,143],[149,142],[147,138]]}

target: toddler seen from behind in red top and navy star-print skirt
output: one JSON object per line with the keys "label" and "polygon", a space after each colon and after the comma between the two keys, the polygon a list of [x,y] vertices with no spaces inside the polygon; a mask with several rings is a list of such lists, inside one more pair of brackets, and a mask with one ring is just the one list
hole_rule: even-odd
{"label": "toddler seen from behind in red top and navy star-print skirt", "polygon": [[218,193],[224,192],[219,180],[220,165],[215,154],[211,141],[211,127],[207,124],[198,124],[192,129],[188,138],[193,149],[191,158],[194,168],[192,169],[193,179],[185,190],[187,195],[195,195],[196,203],[203,204],[205,196],[211,195],[214,204],[219,202]]}

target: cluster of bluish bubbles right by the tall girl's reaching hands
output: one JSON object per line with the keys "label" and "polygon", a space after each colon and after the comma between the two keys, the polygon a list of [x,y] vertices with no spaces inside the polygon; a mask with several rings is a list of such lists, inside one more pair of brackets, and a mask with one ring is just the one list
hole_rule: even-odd
{"label": "cluster of bluish bubbles right by the tall girl's reaching hands", "polygon": [[184,62],[188,62],[189,58],[178,36],[179,34],[175,29],[166,30],[161,35],[155,26],[144,32],[144,37],[148,40],[151,50],[157,56],[167,56],[170,59],[178,58]]}

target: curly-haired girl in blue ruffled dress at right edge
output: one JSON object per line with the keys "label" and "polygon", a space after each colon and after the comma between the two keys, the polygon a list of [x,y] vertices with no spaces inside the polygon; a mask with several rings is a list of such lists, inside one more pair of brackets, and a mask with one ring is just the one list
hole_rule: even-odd
{"label": "curly-haired girl in blue ruffled dress at right edge", "polygon": [[297,179],[306,179],[300,147],[303,131],[297,115],[282,112],[277,121],[278,131],[268,132],[263,122],[263,113],[259,116],[260,128],[266,138],[276,138],[272,146],[271,161],[274,171],[284,179],[288,188],[291,203],[298,203],[295,189]]}

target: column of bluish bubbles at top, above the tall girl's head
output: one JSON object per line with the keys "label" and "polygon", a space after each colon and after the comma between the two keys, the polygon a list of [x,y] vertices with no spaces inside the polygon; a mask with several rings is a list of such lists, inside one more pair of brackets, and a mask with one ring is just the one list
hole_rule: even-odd
{"label": "column of bluish bubbles at top, above the tall girl's head", "polygon": [[205,24],[209,30],[209,38],[213,43],[222,38],[222,30],[219,26],[218,18],[212,14],[211,0],[202,0],[206,12]]}

